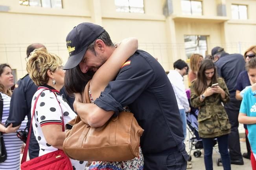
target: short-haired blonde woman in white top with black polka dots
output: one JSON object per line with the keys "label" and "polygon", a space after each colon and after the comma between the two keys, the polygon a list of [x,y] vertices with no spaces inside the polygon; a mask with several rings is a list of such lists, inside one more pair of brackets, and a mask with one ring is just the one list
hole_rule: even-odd
{"label": "short-haired blonde woman in white top with black polka dots", "polygon": [[[31,116],[35,99],[40,94],[32,121],[40,147],[39,156],[63,149],[65,132],[62,130],[62,120],[66,124],[76,117],[66,100],[59,94],[64,85],[65,73],[61,64],[61,58],[48,53],[45,48],[35,50],[28,58],[27,71],[33,82],[39,86],[32,99]],[[45,88],[51,90],[44,90]],[[76,170],[84,170],[87,164],[86,161],[70,161]]]}

